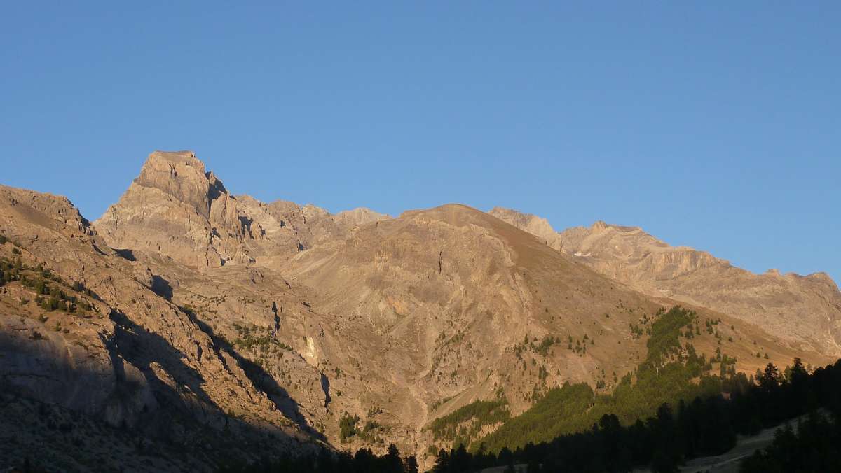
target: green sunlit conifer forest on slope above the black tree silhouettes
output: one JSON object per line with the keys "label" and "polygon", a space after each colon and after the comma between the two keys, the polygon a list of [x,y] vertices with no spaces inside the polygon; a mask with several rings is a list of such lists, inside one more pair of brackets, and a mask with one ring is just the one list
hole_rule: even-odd
{"label": "green sunlit conifer forest on slope above the black tree silhouettes", "polygon": [[[503,401],[474,402],[434,420],[431,423],[433,438],[436,442],[446,440],[447,445],[452,446],[464,444],[473,453],[482,444],[489,451],[499,452],[503,447],[513,449],[529,442],[545,442],[562,434],[586,430],[607,413],[615,413],[622,423],[632,423],[656,411],[663,402],[721,392],[722,383],[716,379],[705,376],[700,385],[691,382],[711,369],[711,364],[698,356],[691,344],[685,350],[680,347],[683,328],[690,333],[696,320],[696,313],[683,307],[672,307],[668,312],[661,309],[653,318],[643,315],[643,325],[648,325],[649,335],[646,360],[637,371],[624,376],[609,395],[596,395],[586,383],[564,383],[545,392],[532,407],[515,418],[510,418],[507,408],[499,408],[505,405]],[[551,337],[543,340],[534,345],[526,337],[516,345],[516,355],[529,348],[539,352],[554,342]],[[587,340],[585,334],[584,346]],[[571,338],[569,343],[571,346]],[[634,378],[636,382],[632,382]],[[498,396],[503,398],[501,392]],[[504,422],[500,428],[473,441],[482,426],[500,422]],[[431,454],[436,454],[434,446],[431,446]]]}

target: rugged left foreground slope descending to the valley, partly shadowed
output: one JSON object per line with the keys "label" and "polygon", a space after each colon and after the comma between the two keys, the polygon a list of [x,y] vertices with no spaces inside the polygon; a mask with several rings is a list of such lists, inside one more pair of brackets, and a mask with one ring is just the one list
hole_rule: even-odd
{"label": "rugged left foreground slope descending to the valley, partly shadowed", "polygon": [[[0,456],[21,455],[29,442],[37,447],[29,455],[69,469],[116,470],[119,449],[103,445],[119,439],[131,451],[150,447],[205,469],[251,442],[283,450],[312,439],[257,386],[259,372],[159,296],[149,266],[108,248],[66,198],[0,187],[0,234],[3,272],[14,279],[0,287],[3,412],[44,413],[64,438],[38,447],[34,431],[20,432],[27,423],[3,416],[0,435],[8,438],[0,444],[13,452]],[[64,410],[54,416],[55,409]],[[93,423],[73,422],[70,413]],[[63,448],[70,444],[76,448]],[[78,455],[69,459],[71,451]]]}

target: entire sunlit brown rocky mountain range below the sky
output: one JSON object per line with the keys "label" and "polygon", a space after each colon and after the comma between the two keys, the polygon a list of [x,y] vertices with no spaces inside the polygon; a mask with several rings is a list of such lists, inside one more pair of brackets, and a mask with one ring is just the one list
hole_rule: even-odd
{"label": "entire sunlit brown rocky mountain range below the sky", "polygon": [[[696,348],[738,371],[837,354],[828,278],[750,275],[597,227],[263,203],[188,151],[152,153],[94,223],[66,198],[0,187],[0,267],[17,276],[0,286],[0,456],[34,455],[43,431],[66,470],[390,442],[429,465],[430,423],[458,407],[519,413],[565,381],[611,391],[645,357],[633,328],[679,302],[721,327]],[[27,434],[14,419],[32,413],[43,427]]]}

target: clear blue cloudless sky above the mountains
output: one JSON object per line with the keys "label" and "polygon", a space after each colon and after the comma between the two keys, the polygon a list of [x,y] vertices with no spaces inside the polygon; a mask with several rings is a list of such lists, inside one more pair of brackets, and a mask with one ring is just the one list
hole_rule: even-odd
{"label": "clear blue cloudless sky above the mountains", "polygon": [[103,213],[151,150],[231,192],[640,225],[841,281],[841,3],[6,2],[0,182]]}

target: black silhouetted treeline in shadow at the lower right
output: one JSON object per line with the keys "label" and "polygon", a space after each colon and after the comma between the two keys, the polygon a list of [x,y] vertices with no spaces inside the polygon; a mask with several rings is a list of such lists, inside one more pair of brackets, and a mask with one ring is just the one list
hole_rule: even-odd
{"label": "black silhouetted treeline in shadow at the lower right", "polygon": [[[732,449],[738,434],[757,434],[819,407],[836,419],[841,415],[841,360],[810,375],[796,359],[790,373],[785,377],[769,364],[755,384],[734,384],[729,398],[717,394],[678,402],[676,407],[664,403],[652,417],[629,426],[623,426],[616,415],[605,414],[584,432],[529,443],[513,452],[505,448],[494,455],[484,447],[476,453],[463,447],[441,450],[432,471],[461,473],[526,464],[529,472],[624,472],[640,466],[673,472],[685,460]],[[812,416],[802,428],[796,435],[778,434],[775,445],[747,460],[743,471],[838,471],[837,420]],[[811,455],[807,463],[797,465],[806,461],[802,460],[805,455]]]}

